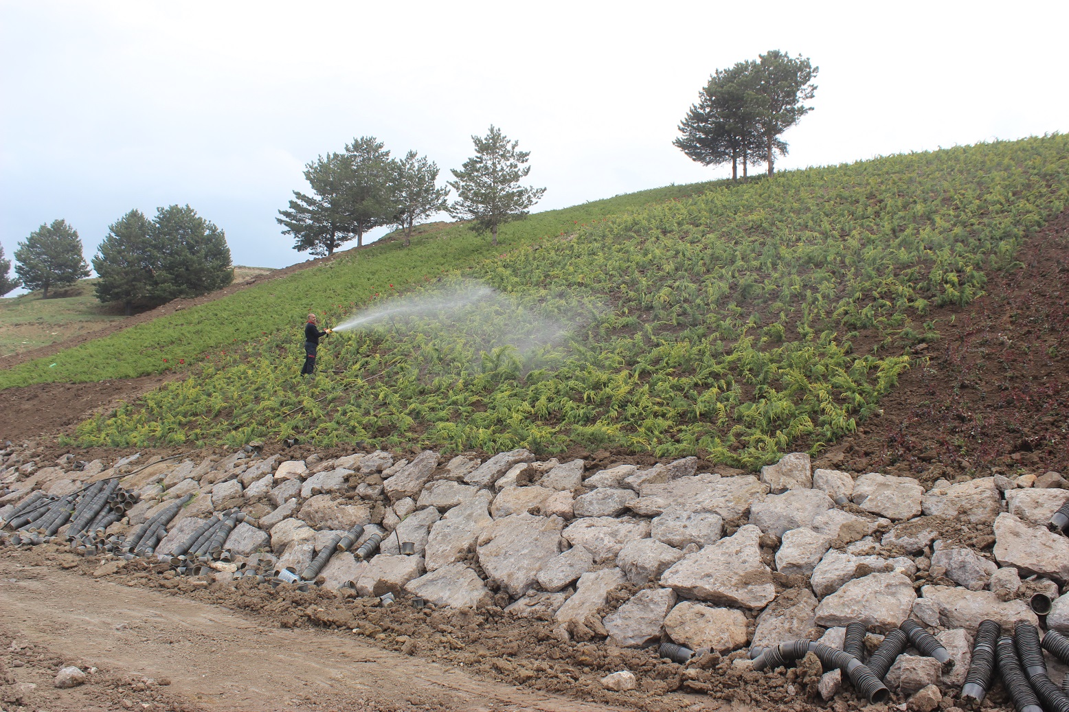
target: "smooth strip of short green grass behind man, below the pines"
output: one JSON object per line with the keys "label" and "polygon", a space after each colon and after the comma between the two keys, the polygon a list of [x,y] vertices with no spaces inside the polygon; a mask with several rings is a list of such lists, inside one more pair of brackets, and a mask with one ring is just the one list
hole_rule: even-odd
{"label": "smooth strip of short green grass behind man, below the pines", "polygon": [[574,230],[579,223],[700,192],[711,185],[669,186],[536,213],[503,226],[496,250],[492,250],[489,236],[475,235],[456,225],[424,232],[414,237],[408,248],[400,241],[376,243],[224,299],[19,365],[0,373],[0,390],[34,383],[84,383],[160,373],[221,356],[236,344],[268,334],[297,341],[309,311],[330,312],[337,318],[375,294],[409,289],[444,273],[498,259],[547,235]]}

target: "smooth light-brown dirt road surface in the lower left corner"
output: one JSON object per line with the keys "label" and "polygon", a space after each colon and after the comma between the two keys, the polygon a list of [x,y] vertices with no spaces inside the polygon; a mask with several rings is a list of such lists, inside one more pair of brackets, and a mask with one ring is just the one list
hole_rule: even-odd
{"label": "smooth light-brown dirt road surface in the lower left corner", "polygon": [[[17,697],[21,690],[29,707],[51,712],[621,709],[478,680],[357,636],[269,628],[221,606],[13,558],[0,559],[0,635],[13,682],[0,691]],[[102,672],[57,690],[51,681],[63,664]]]}

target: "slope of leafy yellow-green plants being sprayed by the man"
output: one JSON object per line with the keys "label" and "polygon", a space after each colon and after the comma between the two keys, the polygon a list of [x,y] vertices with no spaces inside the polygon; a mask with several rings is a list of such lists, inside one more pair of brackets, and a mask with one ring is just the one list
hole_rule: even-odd
{"label": "slope of leafy yellow-green plants being sprayed by the man", "polygon": [[[423,288],[463,292],[463,279],[477,278],[500,296],[338,335],[311,383],[297,375],[293,335],[268,332],[84,423],[79,437],[584,445],[753,467],[832,442],[878,408],[909,368],[904,346],[936,338],[929,310],[969,304],[987,272],[1013,268],[1023,238],[1069,204],[1067,176],[1069,139],[1053,136],[783,173],[619,215],[591,211],[563,234],[558,220],[529,233],[545,237],[537,244],[514,241],[507,256]],[[355,300],[368,301],[373,279],[416,283],[445,268],[446,249],[469,248],[424,243],[422,273],[416,250],[387,249],[388,260],[357,256],[309,284],[331,295],[363,289],[369,298]],[[354,266],[382,276],[351,287]],[[339,296],[331,316],[347,310]],[[295,323],[299,311],[285,313]],[[564,334],[551,338],[557,328]]]}

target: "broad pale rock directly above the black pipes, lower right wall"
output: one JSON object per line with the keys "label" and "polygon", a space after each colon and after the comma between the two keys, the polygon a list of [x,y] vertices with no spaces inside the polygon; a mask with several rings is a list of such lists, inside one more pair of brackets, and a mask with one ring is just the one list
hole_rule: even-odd
{"label": "broad pale rock directly above the black pipes, lower right wall", "polygon": [[909,618],[917,594],[900,573],[873,573],[847,582],[817,605],[818,625],[831,628],[859,620],[884,633]]}

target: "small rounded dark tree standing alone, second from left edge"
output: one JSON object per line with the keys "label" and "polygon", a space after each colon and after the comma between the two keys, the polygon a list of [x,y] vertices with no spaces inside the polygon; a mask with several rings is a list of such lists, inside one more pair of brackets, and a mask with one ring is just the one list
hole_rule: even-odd
{"label": "small rounded dark tree standing alone, second from left edge", "polygon": [[18,265],[15,274],[30,291],[42,290],[42,298],[48,298],[48,290],[67,287],[79,279],[89,277],[89,264],[81,253],[78,231],[66,220],[53,220],[42,225],[30,233],[25,243],[15,250]]}

